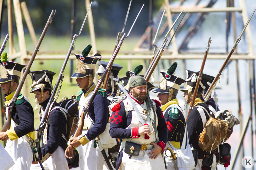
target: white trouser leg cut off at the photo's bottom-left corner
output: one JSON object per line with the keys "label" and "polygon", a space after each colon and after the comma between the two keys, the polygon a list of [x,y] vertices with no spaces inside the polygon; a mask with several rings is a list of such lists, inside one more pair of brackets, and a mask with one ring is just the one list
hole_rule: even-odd
{"label": "white trouser leg cut off at the photo's bottom-left corner", "polygon": [[0,144],[0,167],[3,170],[9,169],[14,165],[13,158],[5,151],[3,145]]}

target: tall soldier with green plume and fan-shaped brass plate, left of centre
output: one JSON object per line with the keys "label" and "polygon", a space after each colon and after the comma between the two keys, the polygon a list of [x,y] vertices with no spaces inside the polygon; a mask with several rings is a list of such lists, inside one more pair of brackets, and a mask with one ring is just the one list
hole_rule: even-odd
{"label": "tall soldier with green plume and fan-shaped brass plate, left of centre", "polygon": [[[84,106],[93,93],[96,85],[93,82],[94,70],[96,63],[101,59],[100,54],[88,56],[91,45],[88,45],[83,51],[82,55],[75,54],[76,56],[76,71],[71,76],[75,78],[78,86],[82,89],[77,93],[78,100],[78,117],[80,118]],[[97,137],[102,134],[108,122],[108,100],[105,89],[100,89],[88,110],[88,116],[84,119],[84,127],[82,135],[72,137],[69,140],[69,145],[65,151],[68,158],[72,157],[73,149],[78,147],[79,152],[79,166],[81,170],[102,169],[104,165],[104,157],[98,145]],[[78,122],[81,123],[81,120]],[[98,144],[97,144],[98,143]],[[82,144],[82,146],[81,146]]]}

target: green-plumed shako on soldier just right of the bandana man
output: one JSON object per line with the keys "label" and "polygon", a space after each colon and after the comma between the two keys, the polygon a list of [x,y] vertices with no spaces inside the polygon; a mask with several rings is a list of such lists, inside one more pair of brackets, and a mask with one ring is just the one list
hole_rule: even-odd
{"label": "green-plumed shako on soldier just right of the bandana man", "polygon": [[154,89],[153,92],[155,93],[169,93],[171,89],[173,89],[172,95],[177,95],[178,91],[180,89],[180,85],[185,82],[180,77],[177,77],[174,75],[174,72],[176,70],[177,63],[174,62],[172,66],[169,67],[167,73],[166,72],[160,72],[163,75],[163,78],[161,79],[159,86],[157,89]]}

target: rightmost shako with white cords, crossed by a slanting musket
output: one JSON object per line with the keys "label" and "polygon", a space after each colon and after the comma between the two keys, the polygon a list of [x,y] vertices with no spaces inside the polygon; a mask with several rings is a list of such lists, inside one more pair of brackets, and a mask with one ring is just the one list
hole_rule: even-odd
{"label": "rightmost shako with white cords, crossed by a slanting musket", "polygon": [[[189,90],[190,92],[193,92],[195,90],[196,81],[197,81],[199,72],[193,72],[190,70],[186,70],[186,72],[188,74],[188,78],[185,80],[186,84],[184,85],[184,89],[182,89],[181,91]],[[213,76],[209,76],[203,73],[197,94],[201,94],[203,89],[206,88],[205,85],[207,84],[207,82],[213,81],[213,78],[214,78]]]}

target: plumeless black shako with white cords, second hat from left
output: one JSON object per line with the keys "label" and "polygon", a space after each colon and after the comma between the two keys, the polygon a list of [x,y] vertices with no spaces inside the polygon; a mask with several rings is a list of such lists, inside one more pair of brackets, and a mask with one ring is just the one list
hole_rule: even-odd
{"label": "plumeless black shako with white cords, second hat from left", "polygon": [[53,90],[52,80],[55,75],[54,72],[49,70],[33,71],[29,73],[32,79],[32,85],[30,93],[34,91]]}

